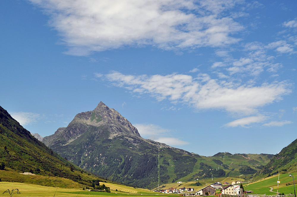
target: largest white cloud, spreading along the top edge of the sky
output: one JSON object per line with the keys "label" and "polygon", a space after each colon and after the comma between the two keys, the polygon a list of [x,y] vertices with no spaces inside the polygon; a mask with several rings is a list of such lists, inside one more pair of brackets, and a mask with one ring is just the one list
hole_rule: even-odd
{"label": "largest white cloud, spreading along the top edge of the sky", "polygon": [[238,42],[231,34],[244,29],[232,15],[223,14],[241,0],[30,1],[51,17],[50,26],[71,55],[125,46],[217,47]]}

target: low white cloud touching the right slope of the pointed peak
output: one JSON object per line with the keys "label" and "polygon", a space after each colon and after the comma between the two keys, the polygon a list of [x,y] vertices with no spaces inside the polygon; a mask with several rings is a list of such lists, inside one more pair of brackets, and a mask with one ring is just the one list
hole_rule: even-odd
{"label": "low white cloud touching the right slope of the pointed peak", "polygon": [[140,134],[144,138],[149,138],[156,142],[161,142],[170,146],[174,145],[185,145],[188,142],[182,141],[179,137],[168,137],[173,136],[169,129],[164,129],[154,124],[133,124]]}

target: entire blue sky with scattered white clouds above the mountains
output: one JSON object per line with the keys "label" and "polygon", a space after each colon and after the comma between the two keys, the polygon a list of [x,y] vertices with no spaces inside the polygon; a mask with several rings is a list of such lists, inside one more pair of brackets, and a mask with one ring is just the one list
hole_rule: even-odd
{"label": "entire blue sky with scattered white clouds above the mountains", "polygon": [[32,133],[102,101],[144,138],[205,156],[297,138],[294,1],[0,4],[0,105]]}

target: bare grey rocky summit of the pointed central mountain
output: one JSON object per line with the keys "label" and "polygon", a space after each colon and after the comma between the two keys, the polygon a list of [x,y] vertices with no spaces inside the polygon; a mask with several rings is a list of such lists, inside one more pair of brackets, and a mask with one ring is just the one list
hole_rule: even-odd
{"label": "bare grey rocky summit of the pointed central mountain", "polygon": [[140,137],[137,128],[126,118],[100,101],[93,111],[81,112],[75,115],[66,128],[59,128],[55,134],[44,137],[42,142],[47,146],[52,146],[53,144],[64,145],[90,130],[96,131],[97,135],[101,136],[103,128],[108,131],[109,139],[119,135]]}

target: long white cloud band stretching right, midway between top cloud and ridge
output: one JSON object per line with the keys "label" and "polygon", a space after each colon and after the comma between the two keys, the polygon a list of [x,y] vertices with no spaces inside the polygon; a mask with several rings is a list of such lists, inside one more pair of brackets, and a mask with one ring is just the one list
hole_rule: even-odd
{"label": "long white cloud band stretching right, midway between top cloud and ridge", "polygon": [[196,109],[225,109],[244,114],[255,113],[258,108],[282,100],[282,96],[291,93],[291,84],[286,81],[246,86],[211,79],[207,74],[193,78],[176,73],[137,76],[111,72],[104,76],[115,86],[131,93],[149,94],[158,101],[168,99]]}

